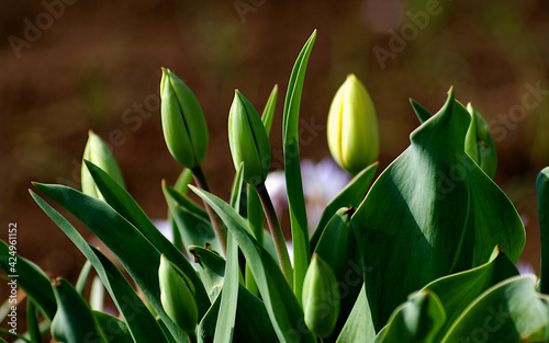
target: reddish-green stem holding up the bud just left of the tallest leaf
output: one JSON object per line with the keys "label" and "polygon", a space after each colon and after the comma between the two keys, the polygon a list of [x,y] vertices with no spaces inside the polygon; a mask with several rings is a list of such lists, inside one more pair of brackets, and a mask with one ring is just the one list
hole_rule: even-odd
{"label": "reddish-green stem holding up the bud just left of the tallest leaf", "polygon": [[280,262],[280,268],[290,285],[290,288],[293,288],[292,264],[285,247],[284,233],[280,228],[280,222],[278,220],[277,213],[274,211],[274,207],[272,206],[269,192],[267,192],[267,187],[264,182],[256,186],[256,191],[259,195],[259,199],[261,201],[261,205],[264,206],[267,224],[269,225],[269,230],[271,231],[274,249],[277,250],[278,260]]}

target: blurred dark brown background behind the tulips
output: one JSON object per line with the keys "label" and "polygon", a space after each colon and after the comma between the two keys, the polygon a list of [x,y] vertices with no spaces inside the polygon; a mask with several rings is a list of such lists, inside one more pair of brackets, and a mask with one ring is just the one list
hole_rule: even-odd
{"label": "blurred dark brown background behind the tulips", "polygon": [[376,103],[381,168],[418,124],[408,98],[436,111],[453,85],[492,126],[496,182],[527,221],[525,260],[538,267],[534,185],[549,164],[548,1],[10,0],[0,16],[0,238],[16,222],[18,252],[53,275],[75,277],[83,258],[33,203],[31,181],[79,187],[93,129],[111,142],[149,217],[165,218],[160,180],[173,182],[180,172],[161,136],[158,84],[167,67],[202,104],[211,137],[203,168],[226,198],[233,90],[262,108],[279,84],[271,144],[280,158],[288,79],[314,28],[302,157],[328,155],[324,125],[347,73]]}

